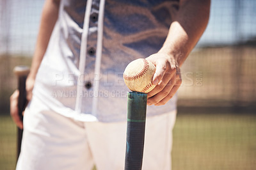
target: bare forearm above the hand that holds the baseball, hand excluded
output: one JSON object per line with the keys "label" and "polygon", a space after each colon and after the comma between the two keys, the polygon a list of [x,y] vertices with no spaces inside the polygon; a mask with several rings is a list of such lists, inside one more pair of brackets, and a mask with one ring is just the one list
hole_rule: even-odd
{"label": "bare forearm above the hand that holds the baseball, hand excluded", "polygon": [[173,56],[181,66],[204,33],[209,20],[210,0],[182,0],[179,12],[159,53]]}

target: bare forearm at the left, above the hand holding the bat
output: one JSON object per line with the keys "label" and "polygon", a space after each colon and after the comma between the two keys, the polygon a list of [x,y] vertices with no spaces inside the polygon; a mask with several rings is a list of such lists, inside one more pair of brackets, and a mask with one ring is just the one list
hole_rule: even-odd
{"label": "bare forearm at the left, above the hand holding the bat", "polygon": [[56,23],[56,20],[58,19],[59,6],[59,1],[45,1],[38,37],[36,40],[35,52],[31,63],[30,73],[28,75],[29,79],[35,79],[38,68],[42,59],[44,58],[44,54],[51,37],[52,29]]}

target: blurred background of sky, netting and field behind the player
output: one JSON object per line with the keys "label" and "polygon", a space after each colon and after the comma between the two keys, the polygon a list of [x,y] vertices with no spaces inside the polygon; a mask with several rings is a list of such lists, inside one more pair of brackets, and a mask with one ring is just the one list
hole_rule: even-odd
{"label": "blurred background of sky, netting and field behind the player", "polygon": [[[0,1],[0,169],[14,169],[9,97],[30,65],[42,0]],[[207,29],[182,66],[173,169],[256,169],[256,1],[212,0]]]}

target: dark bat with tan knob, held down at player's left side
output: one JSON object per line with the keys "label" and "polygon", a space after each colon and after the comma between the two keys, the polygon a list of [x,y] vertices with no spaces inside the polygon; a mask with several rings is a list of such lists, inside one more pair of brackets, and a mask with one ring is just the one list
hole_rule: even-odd
{"label": "dark bat with tan knob, held down at player's left side", "polygon": [[[18,78],[18,89],[19,89],[19,98],[18,98],[18,111],[19,111],[19,118],[23,121],[22,112],[24,111],[27,98],[26,98],[26,79],[29,73],[28,66],[15,66],[13,72],[17,75]],[[21,147],[21,140],[22,140],[22,133],[23,130],[18,127],[17,133],[17,158],[20,155],[20,147]]]}

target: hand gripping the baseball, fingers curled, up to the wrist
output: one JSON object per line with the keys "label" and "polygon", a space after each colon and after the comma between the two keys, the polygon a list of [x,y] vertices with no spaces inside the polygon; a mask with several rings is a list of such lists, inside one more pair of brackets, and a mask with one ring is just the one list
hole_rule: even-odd
{"label": "hand gripping the baseball, fingers curled, up to the wrist", "polygon": [[164,105],[168,102],[182,82],[179,66],[173,56],[165,53],[152,54],[148,58],[156,66],[153,84],[156,87],[148,93],[148,105]]}

